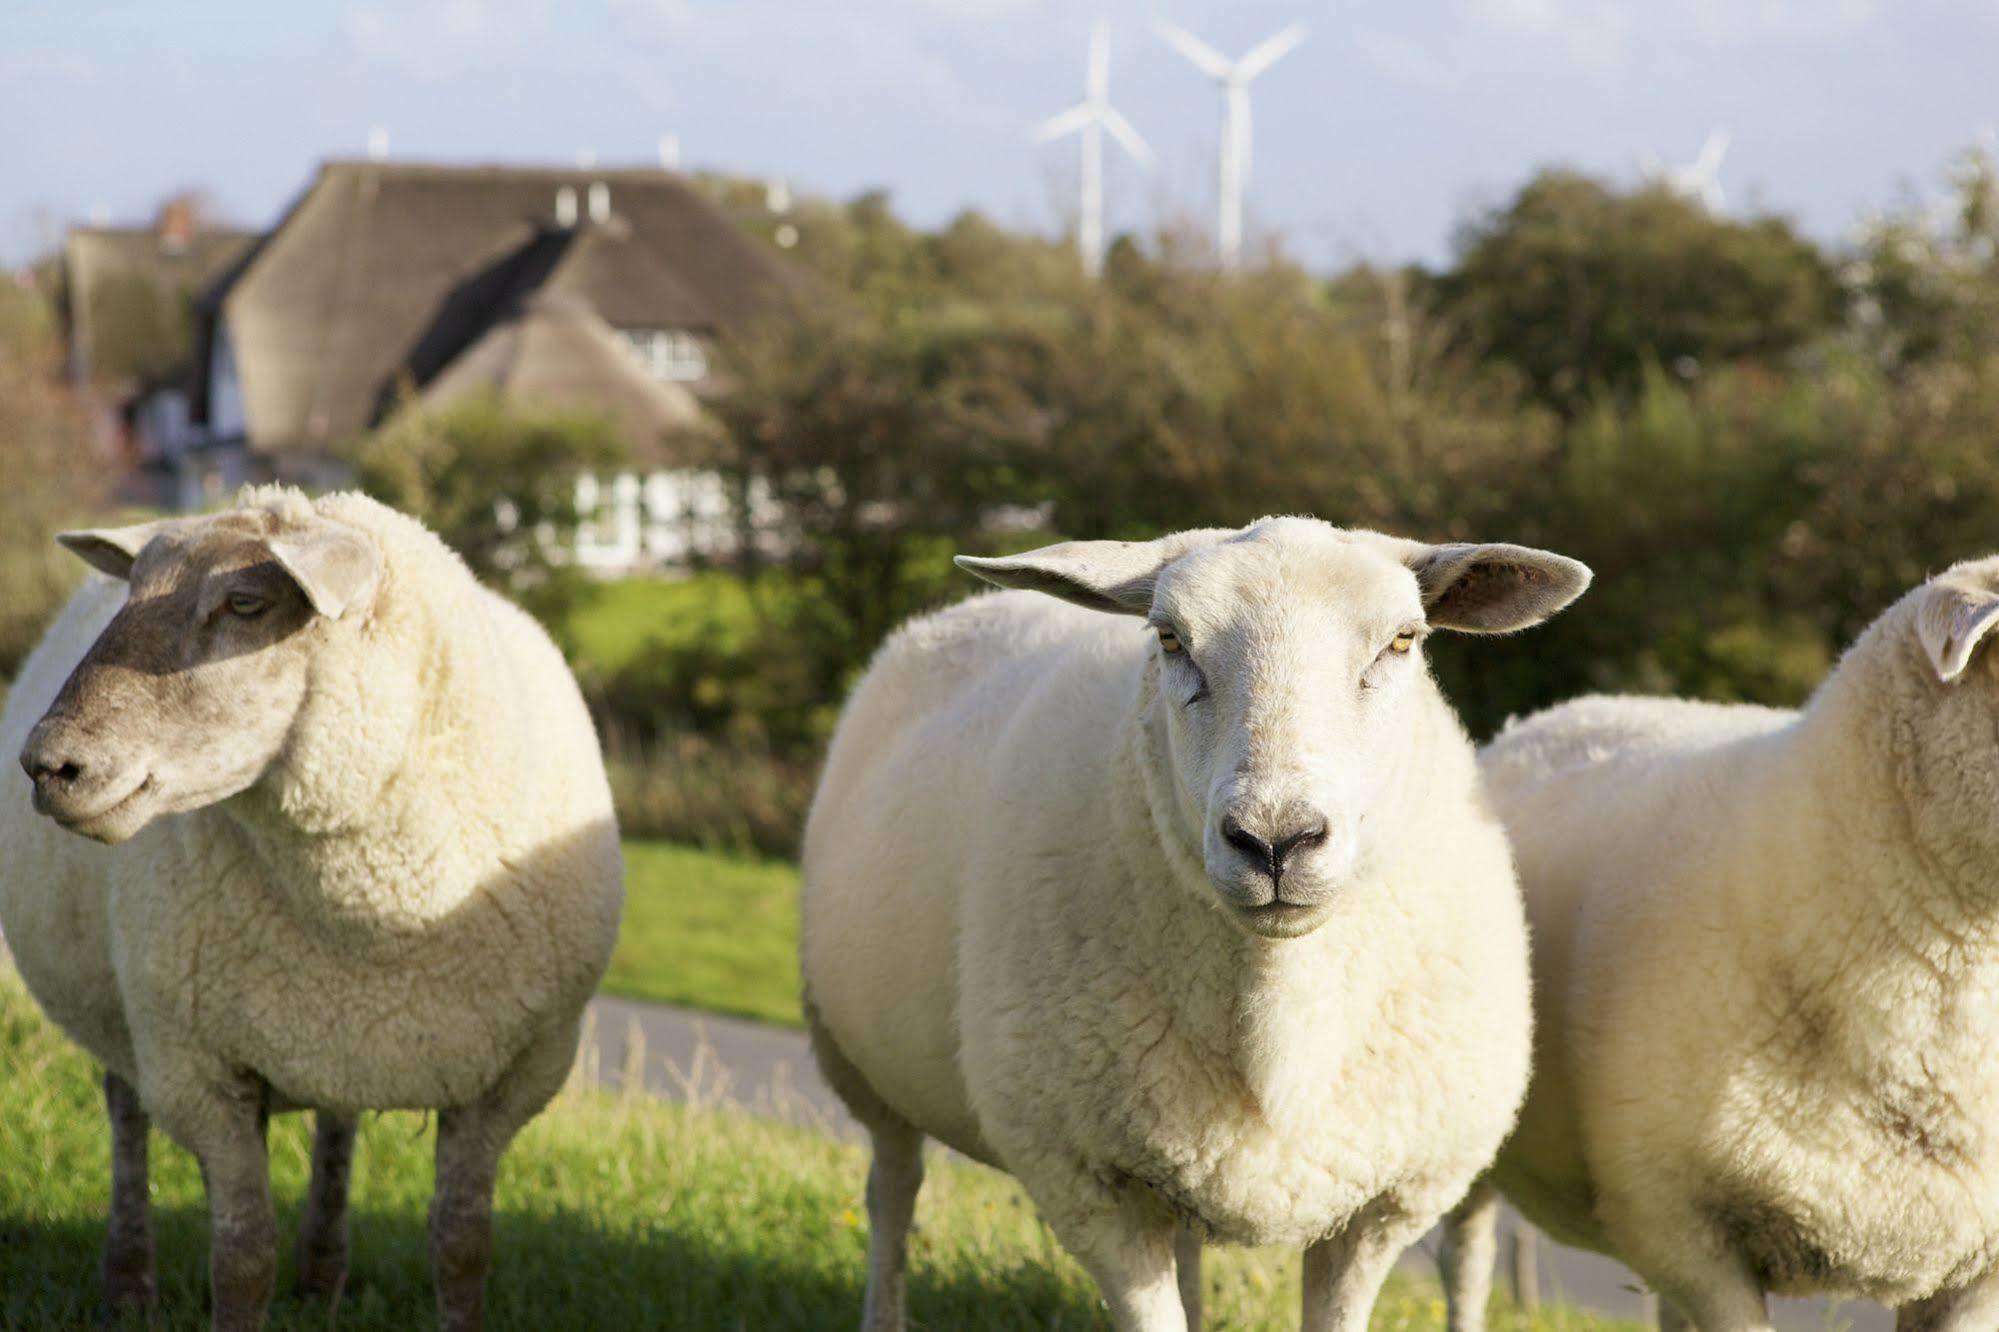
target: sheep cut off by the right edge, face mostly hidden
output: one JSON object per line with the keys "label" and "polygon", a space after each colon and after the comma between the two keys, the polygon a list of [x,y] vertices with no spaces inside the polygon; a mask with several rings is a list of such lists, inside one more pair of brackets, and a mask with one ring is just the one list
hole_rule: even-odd
{"label": "sheep cut off by the right edge, face mostly hidden", "polygon": [[1959,564],[1801,712],[1581,698],[1481,758],[1539,1010],[1493,1184],[1661,1326],[1767,1330],[1765,1292],[1999,1326],[1993,624],[1999,558]]}

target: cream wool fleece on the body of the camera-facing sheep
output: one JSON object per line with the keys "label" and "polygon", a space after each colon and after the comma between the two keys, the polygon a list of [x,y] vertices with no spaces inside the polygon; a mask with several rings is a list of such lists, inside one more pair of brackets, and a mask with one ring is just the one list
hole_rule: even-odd
{"label": "cream wool fleece on the body of the camera-facing sheep", "polygon": [[1029,592],[890,640],[808,832],[816,1018],[1057,1234],[1119,1180],[1219,1242],[1437,1216],[1511,1126],[1529,1046],[1521,906],[1463,730],[1421,676],[1419,758],[1367,812],[1383,852],[1271,946],[1163,888],[1199,848],[1151,816],[1155,688],[1141,626]]}

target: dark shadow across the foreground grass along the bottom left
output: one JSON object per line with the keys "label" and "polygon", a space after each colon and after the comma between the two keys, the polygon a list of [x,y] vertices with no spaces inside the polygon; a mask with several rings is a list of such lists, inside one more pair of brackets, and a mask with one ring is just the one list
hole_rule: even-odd
{"label": "dark shadow across the foreground grass along the bottom left", "polygon": [[[14,1200],[16,1204],[20,1200]],[[0,1328],[96,1326],[102,1228],[36,1222],[0,1200]],[[296,1210],[280,1214],[284,1260],[272,1328],[328,1326],[320,1300],[290,1294]],[[208,1216],[200,1208],[154,1210],[160,1312],[154,1328],[208,1326]],[[352,1214],[352,1262],[338,1310],[348,1330],[432,1326],[424,1228],[406,1212]],[[770,1252],[728,1252],[652,1226],[608,1236],[584,1218],[502,1214],[494,1222],[488,1326],[502,1328],[850,1328],[860,1322],[860,1262],[830,1272],[824,1246],[788,1258],[786,1236]],[[816,1250],[816,1252],[804,1252]],[[940,1280],[942,1278],[942,1280]],[[912,1268],[912,1328],[1101,1328],[1093,1302],[1047,1268],[1017,1266],[976,1278]]]}

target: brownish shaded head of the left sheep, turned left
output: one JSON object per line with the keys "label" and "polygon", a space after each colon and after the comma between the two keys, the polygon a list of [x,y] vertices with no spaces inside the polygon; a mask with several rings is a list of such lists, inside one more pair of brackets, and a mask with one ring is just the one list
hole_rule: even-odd
{"label": "brownish shaded head of the left sheep, turned left", "polygon": [[58,540],[130,592],[20,762],[34,808],[100,842],[256,784],[292,736],[328,636],[352,632],[380,578],[362,532],[310,510]]}

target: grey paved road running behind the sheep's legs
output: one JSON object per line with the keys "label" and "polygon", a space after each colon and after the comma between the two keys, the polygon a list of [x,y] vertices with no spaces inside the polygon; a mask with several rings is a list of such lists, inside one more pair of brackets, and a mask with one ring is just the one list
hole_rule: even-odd
{"label": "grey paved road running behind the sheep's legs", "polygon": [[[612,996],[600,996],[590,1010],[596,1072],[612,1086],[624,1084],[636,1058],[646,1086],[662,1096],[730,1100],[752,1114],[862,1138],[860,1126],[820,1078],[802,1032]],[[1511,1228],[1519,1224],[1511,1214],[1505,1218],[1501,1254],[1511,1252]],[[1433,1270],[1435,1252],[1437,1236],[1431,1234],[1421,1252],[1409,1250],[1403,1266]],[[1637,1278],[1609,1258],[1561,1248],[1547,1238],[1537,1240],[1535,1254],[1543,1300],[1567,1300],[1627,1318],[1645,1316],[1647,1296]],[[1873,1304],[1835,1310],[1819,1300],[1773,1300],[1771,1314],[1783,1332],[1893,1328],[1889,1314]]]}

